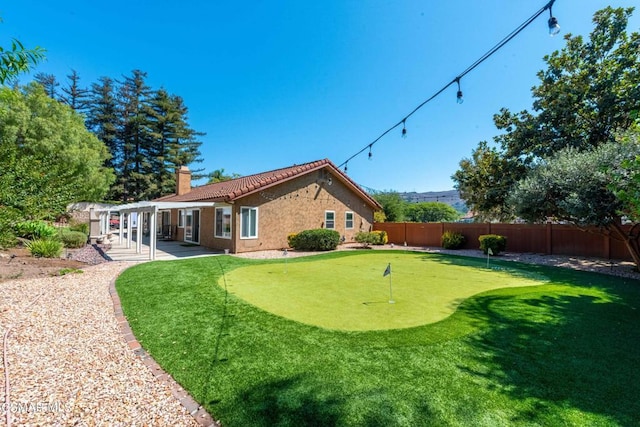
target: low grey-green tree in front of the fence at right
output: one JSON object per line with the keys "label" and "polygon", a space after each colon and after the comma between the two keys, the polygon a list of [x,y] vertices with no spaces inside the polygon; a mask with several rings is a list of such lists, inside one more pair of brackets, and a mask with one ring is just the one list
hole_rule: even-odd
{"label": "low grey-green tree in front of the fence at right", "polygon": [[[610,142],[588,151],[567,147],[537,164],[520,181],[510,203],[515,212],[532,222],[548,218],[577,226],[595,225],[625,243],[640,267],[638,233],[625,231],[620,213],[625,210],[610,186],[612,176],[623,176],[622,164],[640,156],[640,144]],[[623,187],[632,187],[633,178],[620,178]]]}

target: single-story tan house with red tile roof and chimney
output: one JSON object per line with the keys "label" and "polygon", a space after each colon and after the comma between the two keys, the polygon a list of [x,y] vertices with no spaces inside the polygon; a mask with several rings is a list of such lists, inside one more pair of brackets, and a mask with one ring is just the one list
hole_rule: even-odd
{"label": "single-story tan house with red tile roof and chimney", "polygon": [[151,203],[158,235],[231,253],[286,248],[289,234],[315,228],[354,241],[382,209],[328,159],[193,188],[182,166],[176,193]]}

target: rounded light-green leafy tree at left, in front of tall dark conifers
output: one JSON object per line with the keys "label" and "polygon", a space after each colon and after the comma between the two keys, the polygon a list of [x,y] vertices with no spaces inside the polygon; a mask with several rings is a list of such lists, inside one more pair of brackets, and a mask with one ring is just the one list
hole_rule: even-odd
{"label": "rounded light-green leafy tree at left, in front of tall dark conifers", "polygon": [[40,219],[101,200],[114,179],[108,157],[84,118],[40,85],[0,88],[0,209]]}

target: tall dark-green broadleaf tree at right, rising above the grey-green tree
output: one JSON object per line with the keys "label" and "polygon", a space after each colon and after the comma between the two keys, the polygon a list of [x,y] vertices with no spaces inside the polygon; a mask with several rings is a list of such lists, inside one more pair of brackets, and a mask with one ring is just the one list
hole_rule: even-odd
{"label": "tall dark-green broadleaf tree at right, rising above the grey-green tree", "polygon": [[614,141],[633,124],[640,109],[640,35],[627,35],[632,11],[596,12],[588,41],[565,36],[566,46],[544,58],[533,113],[502,109],[494,116],[503,131],[494,138],[499,147],[481,142],[452,177],[470,210],[512,217],[509,194],[538,162],[566,147],[583,151]]}

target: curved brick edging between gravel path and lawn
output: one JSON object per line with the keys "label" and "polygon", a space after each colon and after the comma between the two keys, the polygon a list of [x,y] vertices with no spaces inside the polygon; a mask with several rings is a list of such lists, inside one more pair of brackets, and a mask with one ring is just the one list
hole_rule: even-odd
{"label": "curved brick edging between gravel path and lawn", "polygon": [[220,424],[215,421],[213,417],[202,406],[200,406],[200,404],[196,402],[195,399],[193,399],[189,393],[187,393],[186,390],[184,390],[182,386],[180,386],[180,384],[171,377],[171,375],[167,374],[160,365],[153,360],[153,357],[151,357],[149,353],[142,348],[136,337],[133,335],[129,322],[122,312],[120,296],[116,291],[116,279],[117,277],[109,283],[109,295],[113,302],[113,312],[116,317],[116,321],[118,322],[118,326],[120,327],[120,332],[122,333],[122,337],[127,343],[129,349],[135,356],[140,358],[142,363],[149,368],[153,376],[158,381],[164,383],[169,390],[171,390],[173,397],[175,397],[187,412],[191,414],[198,425],[202,427],[219,427]]}

